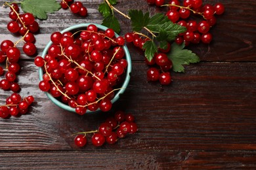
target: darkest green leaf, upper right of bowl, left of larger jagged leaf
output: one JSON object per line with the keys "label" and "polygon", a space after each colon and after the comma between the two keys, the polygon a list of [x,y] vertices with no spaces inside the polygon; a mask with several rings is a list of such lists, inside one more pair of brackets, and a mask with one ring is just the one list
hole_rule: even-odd
{"label": "darkest green leaf, upper right of bowl, left of larger jagged leaf", "polygon": [[140,31],[142,27],[148,25],[150,19],[148,12],[143,14],[142,10],[129,10],[128,14],[131,17],[133,31]]}

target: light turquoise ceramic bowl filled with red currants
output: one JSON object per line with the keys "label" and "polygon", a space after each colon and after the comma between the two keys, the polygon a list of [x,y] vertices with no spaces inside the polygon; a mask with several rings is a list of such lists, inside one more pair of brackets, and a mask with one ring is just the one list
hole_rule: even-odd
{"label": "light turquoise ceramic bowl filled with red currants", "polygon": [[[93,23],[88,23],[88,24],[77,24],[77,25],[73,25],[71,27],[68,27],[62,31],[60,31],[60,33],[64,33],[66,31],[72,31],[72,30],[77,30],[77,29],[85,29],[88,25],[90,24],[93,24]],[[108,27],[105,27],[103,25],[99,25],[99,24],[94,24],[98,27],[98,29],[102,30],[102,31],[105,31],[106,29],[108,29]],[[117,35],[116,33],[116,37],[119,37],[119,35]],[[43,53],[42,53],[42,57],[45,58],[45,55],[47,54],[47,51],[48,51],[48,48],[51,46],[51,44],[53,44],[53,42],[49,42],[47,44],[47,46],[45,46],[45,49],[43,50]],[[129,84],[129,80],[130,80],[130,73],[131,73],[131,56],[129,54],[129,50],[127,48],[126,45],[123,46],[123,50],[125,50],[125,59],[127,59],[127,69],[126,69],[126,77],[125,77],[125,80],[121,86],[121,89],[119,91],[116,92],[116,95],[114,97],[114,99],[112,99],[112,103],[115,103],[118,99],[119,99],[119,96],[125,92],[125,89],[127,88],[128,84]],[[43,69],[40,67],[39,68],[39,80],[43,80]],[[53,101],[53,103],[55,105],[57,105],[58,107],[62,108],[62,109],[65,109],[65,110],[68,110],[68,111],[72,111],[72,112],[75,112],[75,109],[62,103],[61,101],[59,101],[58,99],[56,99],[55,97],[53,97],[51,95],[51,93],[48,93],[48,92],[45,92],[45,94],[47,95],[47,97]],[[100,111],[99,109],[94,111],[94,112],[98,112]],[[93,113],[93,111],[91,110],[87,110],[87,113]]]}

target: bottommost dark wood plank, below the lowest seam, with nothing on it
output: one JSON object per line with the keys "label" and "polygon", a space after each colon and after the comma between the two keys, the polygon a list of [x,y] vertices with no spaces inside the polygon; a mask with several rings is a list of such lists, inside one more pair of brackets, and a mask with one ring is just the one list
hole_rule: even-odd
{"label": "bottommost dark wood plank, below the lowest seam, with nothing on it", "polygon": [[1,152],[3,169],[255,169],[255,152]]}

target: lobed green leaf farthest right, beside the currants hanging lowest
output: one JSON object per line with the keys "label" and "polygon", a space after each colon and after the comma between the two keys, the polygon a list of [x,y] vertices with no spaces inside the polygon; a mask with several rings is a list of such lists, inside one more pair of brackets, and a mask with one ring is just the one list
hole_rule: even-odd
{"label": "lobed green leaf farthest right, beside the currants hanging lowest", "polygon": [[198,63],[200,58],[196,56],[192,51],[185,50],[184,43],[182,45],[173,42],[171,44],[171,51],[167,54],[167,57],[173,62],[173,71],[183,72],[185,71],[183,65],[189,65],[190,63]]}

